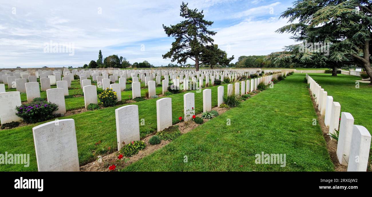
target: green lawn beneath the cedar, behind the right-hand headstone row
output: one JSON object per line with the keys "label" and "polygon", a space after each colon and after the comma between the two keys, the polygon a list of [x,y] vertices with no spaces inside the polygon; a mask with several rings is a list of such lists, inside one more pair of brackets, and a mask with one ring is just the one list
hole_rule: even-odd
{"label": "green lawn beneath the cedar, behind the right-hand headstone row", "polygon": [[[362,125],[372,133],[372,86],[368,83],[359,83],[356,88],[358,76],[309,73],[328,96],[333,96],[334,102],[339,102],[341,112],[349,112],[354,117],[354,124]],[[302,74],[305,77],[305,73]]]}

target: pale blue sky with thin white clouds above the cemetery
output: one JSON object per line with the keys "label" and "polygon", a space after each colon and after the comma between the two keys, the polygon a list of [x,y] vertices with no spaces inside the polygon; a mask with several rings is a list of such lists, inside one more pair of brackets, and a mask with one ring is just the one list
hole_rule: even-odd
{"label": "pale blue sky with thin white clouds above the cemetery", "polygon": [[[171,47],[162,24],[179,23],[182,0],[2,0],[0,5],[0,68],[83,66],[123,56],[129,62],[147,60],[154,66]],[[215,44],[235,63],[242,55],[267,55],[294,44],[291,35],[275,30],[287,24],[280,14],[291,7],[283,0],[189,0],[189,9],[204,10],[217,32]],[[45,52],[45,43],[70,43],[73,53]],[[193,63],[190,60],[188,63]]]}

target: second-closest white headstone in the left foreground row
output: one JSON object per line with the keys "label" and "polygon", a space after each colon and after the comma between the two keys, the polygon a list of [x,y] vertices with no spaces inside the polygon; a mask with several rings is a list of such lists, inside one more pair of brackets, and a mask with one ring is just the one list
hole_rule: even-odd
{"label": "second-closest white headstone in the left foreground row", "polygon": [[115,109],[115,117],[118,150],[132,141],[140,140],[138,105],[126,105]]}

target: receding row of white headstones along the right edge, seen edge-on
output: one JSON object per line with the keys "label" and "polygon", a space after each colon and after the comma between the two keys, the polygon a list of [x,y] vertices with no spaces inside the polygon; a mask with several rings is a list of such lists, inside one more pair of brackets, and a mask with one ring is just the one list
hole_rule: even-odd
{"label": "receding row of white headstones along the right edge, seen edge-on", "polygon": [[315,97],[318,110],[321,116],[324,116],[328,133],[336,135],[336,131],[339,131],[337,141],[339,163],[347,166],[347,171],[366,171],[371,147],[371,134],[365,127],[354,124],[352,114],[341,112],[340,103],[334,102],[333,97],[329,96],[308,74],[306,74],[306,79],[310,84],[310,91]]}

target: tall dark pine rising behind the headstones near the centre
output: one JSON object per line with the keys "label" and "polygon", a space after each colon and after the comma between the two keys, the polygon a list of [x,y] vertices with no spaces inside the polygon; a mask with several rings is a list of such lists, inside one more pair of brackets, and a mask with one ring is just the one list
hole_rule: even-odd
{"label": "tall dark pine rising behind the headstones near the centre", "polygon": [[[172,62],[183,64],[190,58],[195,61],[197,71],[199,64],[202,63],[212,62],[212,60],[230,63],[234,59],[234,56],[227,58],[225,51],[216,49],[217,45],[213,45],[214,40],[211,36],[216,32],[207,29],[213,22],[203,19],[203,10],[201,12],[198,12],[198,9],[190,10],[187,8],[187,3],[182,2],[180,11],[180,16],[186,20],[170,27],[163,24],[166,34],[176,39],[170,51],[163,55],[164,59],[172,58]],[[218,52],[218,56],[214,55],[214,52]]]}

